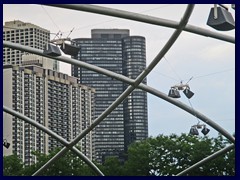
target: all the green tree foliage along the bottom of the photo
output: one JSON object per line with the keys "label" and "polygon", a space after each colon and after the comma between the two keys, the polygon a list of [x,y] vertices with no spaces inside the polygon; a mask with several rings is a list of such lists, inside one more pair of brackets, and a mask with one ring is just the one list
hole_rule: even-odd
{"label": "all the green tree foliage along the bottom of the photo", "polygon": [[[103,165],[97,165],[106,176],[172,176],[226,147],[230,142],[222,136],[159,135],[144,141],[133,143],[122,163],[116,157],[106,159]],[[23,166],[16,155],[4,157],[3,174],[5,176],[32,175],[59,149],[49,155],[34,152],[38,163]],[[76,154],[69,151],[58,159],[43,176],[93,176],[96,175]],[[229,151],[203,166],[190,171],[188,176],[234,176],[235,150]]]}

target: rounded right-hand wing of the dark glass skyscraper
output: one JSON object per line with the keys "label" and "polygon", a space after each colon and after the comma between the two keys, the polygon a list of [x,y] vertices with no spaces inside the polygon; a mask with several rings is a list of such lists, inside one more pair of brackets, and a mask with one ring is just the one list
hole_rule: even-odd
{"label": "rounded right-hand wing of the dark glass skyscraper", "polygon": [[[136,79],[146,68],[145,38],[142,36],[129,36],[123,42],[123,75]],[[146,78],[143,80],[146,84]],[[124,90],[128,87],[123,84]],[[135,89],[123,103],[124,112],[124,144],[127,146],[136,140],[148,136],[147,93]]]}

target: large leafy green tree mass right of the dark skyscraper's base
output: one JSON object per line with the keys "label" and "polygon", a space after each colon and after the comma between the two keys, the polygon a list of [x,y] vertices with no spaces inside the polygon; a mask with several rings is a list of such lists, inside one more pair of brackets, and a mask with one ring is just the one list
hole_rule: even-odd
{"label": "large leafy green tree mass right of the dark skyscraper's base", "polygon": [[[159,135],[132,144],[125,163],[128,175],[172,176],[229,144],[222,136]],[[186,175],[235,175],[235,151],[228,152]]]}

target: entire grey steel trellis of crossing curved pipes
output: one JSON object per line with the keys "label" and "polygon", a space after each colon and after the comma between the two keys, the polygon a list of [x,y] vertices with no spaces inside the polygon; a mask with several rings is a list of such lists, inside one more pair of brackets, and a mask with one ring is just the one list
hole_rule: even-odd
{"label": "entire grey steel trellis of crossing curved pipes", "polygon": [[[146,22],[146,23],[150,23],[150,24],[156,24],[156,23],[153,23],[154,20],[152,18],[154,18],[154,17],[150,18],[152,20],[152,22],[150,22],[150,21],[144,20],[144,18],[142,17],[144,15],[139,15],[138,14],[138,16],[136,16],[136,13],[130,13],[130,12],[120,11],[120,10],[116,11],[115,9],[111,9],[111,8],[106,9],[104,7],[98,7],[98,6],[93,6],[93,5],[51,5],[51,6],[63,7],[63,8],[69,8],[69,9],[76,9],[76,10],[82,10],[82,11],[89,11],[89,12],[93,12],[93,13],[105,14],[105,15],[110,15],[110,16],[122,17],[122,18],[125,18],[125,19],[132,19],[132,20],[136,20],[136,21]],[[118,79],[120,81],[127,82],[128,84],[130,84],[129,87],[97,119],[95,119],[95,121],[90,125],[90,127],[86,128],[73,141],[67,142],[63,138],[61,138],[58,135],[56,135],[55,133],[53,133],[51,130],[48,130],[46,127],[44,127],[42,125],[39,125],[36,122],[33,123],[32,122],[33,120],[31,121],[31,119],[29,119],[27,117],[24,117],[20,113],[14,112],[13,110],[10,110],[9,108],[4,107],[5,112],[10,113],[12,115],[15,115],[15,116],[21,118],[22,120],[31,123],[35,127],[43,130],[44,132],[46,132],[49,135],[56,138],[58,141],[60,141],[65,146],[58,154],[56,154],[52,159],[50,159],[44,166],[42,166],[33,175],[38,175],[39,173],[41,173],[44,169],[49,167],[49,165],[51,165],[51,163],[55,162],[58,158],[60,158],[63,154],[65,154],[69,149],[71,149],[72,151],[77,153],[77,155],[79,155],[79,157],[82,160],[84,160],[95,172],[97,172],[99,175],[103,175],[103,173],[87,157],[85,157],[80,151],[78,151],[74,147],[74,145],[78,141],[80,141],[81,138],[83,138],[87,133],[89,133],[94,127],[96,127],[102,120],[104,120],[104,118],[107,117],[108,114],[111,113],[111,111],[113,111],[135,88],[140,88],[142,90],[145,90],[145,91],[147,91],[147,92],[149,92],[149,93],[151,93],[151,94],[153,94],[157,97],[160,97],[160,98],[162,98],[162,99],[164,99],[164,100],[182,108],[183,110],[191,113],[194,116],[196,115],[199,119],[203,120],[205,123],[209,124],[214,129],[216,129],[217,131],[222,133],[231,142],[235,143],[235,138],[232,135],[230,135],[226,130],[224,130],[222,127],[217,125],[214,121],[210,120],[209,118],[207,118],[206,116],[197,112],[196,110],[193,110],[192,108],[188,107],[187,105],[184,105],[180,101],[169,98],[164,93],[161,93],[158,90],[155,90],[155,89],[141,83],[141,81],[151,72],[151,70],[157,65],[157,63],[162,59],[162,57],[168,52],[168,50],[171,48],[171,46],[174,44],[174,42],[176,41],[176,39],[179,37],[179,35],[181,34],[181,32],[183,30],[193,32],[195,34],[207,35],[209,37],[213,37],[213,38],[216,38],[216,39],[220,39],[220,40],[224,40],[224,41],[227,41],[227,42],[235,43],[235,39],[232,38],[232,37],[225,36],[225,35],[222,35],[222,34],[212,33],[210,31],[206,31],[206,30],[199,29],[199,28],[198,28],[198,30],[196,30],[197,29],[196,27],[187,25],[188,19],[191,16],[193,8],[194,8],[194,5],[188,5],[184,16],[179,23],[170,22],[169,20],[163,20],[163,19],[160,19],[160,18],[156,18],[160,22],[156,25],[167,26],[167,27],[175,28],[176,30],[174,31],[174,33],[172,34],[172,36],[170,37],[170,39],[168,40],[166,45],[163,47],[163,49],[159,52],[159,54],[151,62],[151,64],[135,80],[132,80],[132,79],[127,78],[127,77],[125,77],[123,75],[120,75],[120,74],[116,74],[116,73],[111,72],[111,71],[107,71],[106,69],[103,69],[103,68],[99,68],[99,67],[96,67],[96,66],[84,63],[84,62],[76,61],[74,59],[70,59],[70,58],[66,58],[66,57],[62,57],[62,56],[54,58],[54,59],[59,60],[59,61],[63,61],[63,62],[67,62],[67,63],[70,63],[70,64],[77,65],[77,66],[85,67],[87,69],[90,69],[90,70],[108,75],[110,77],[113,77],[115,79]],[[116,15],[114,12],[116,12],[116,14],[120,13],[120,15]],[[133,17],[137,17],[137,18],[134,19]],[[199,33],[199,32],[201,32],[201,33]],[[37,50],[37,49],[34,49],[34,48],[24,47],[24,46],[21,46],[21,45],[16,45],[14,43],[5,42],[5,41],[3,42],[3,45],[6,46],[6,47],[35,53],[35,54],[38,54],[38,55],[41,55],[41,56],[46,56],[46,55],[43,54],[43,52],[41,50]],[[49,56],[47,56],[47,57],[49,57]],[[53,58],[53,57],[51,57],[51,58]],[[207,157],[204,160],[202,160],[202,161],[196,163],[195,165],[189,167],[188,169],[184,170],[183,172],[179,173],[178,175],[182,175],[182,174],[192,170],[193,168],[196,168],[199,165],[201,165],[203,163],[206,163],[209,160],[211,160],[213,158],[216,158],[219,155],[221,155],[221,154],[223,154],[223,153],[225,153],[225,152],[227,152],[227,151],[229,151],[233,148],[234,148],[234,144],[230,145],[227,148],[224,148],[224,149],[220,150],[219,152],[216,152],[216,153],[210,155],[209,157]]]}

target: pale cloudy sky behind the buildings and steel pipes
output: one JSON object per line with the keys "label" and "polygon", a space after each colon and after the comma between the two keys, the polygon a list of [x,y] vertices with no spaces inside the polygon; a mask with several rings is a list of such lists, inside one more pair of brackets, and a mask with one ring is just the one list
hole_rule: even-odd
{"label": "pale cloudy sky behind the buildings and steel pipes", "polygon": [[[179,21],[186,4],[101,4],[100,6],[137,12]],[[235,11],[229,11],[235,19]],[[211,4],[196,4],[189,24],[235,37],[235,30],[216,31],[206,25]],[[21,20],[62,37],[90,38],[91,29],[129,29],[130,35],[146,38],[147,65],[168,41],[174,29],[105,15],[35,4],[3,4],[3,25]],[[72,32],[71,32],[72,30]],[[51,36],[54,38],[54,35]],[[60,71],[70,75],[70,65],[61,63]],[[171,86],[187,83],[195,94],[188,100],[180,92],[179,101],[201,112],[230,134],[235,132],[235,44],[182,32],[172,48],[147,76],[148,85],[168,94]],[[148,94],[149,136],[188,133],[199,119],[178,107]],[[204,124],[200,121],[201,124]],[[209,136],[218,132],[210,129]],[[202,134],[200,133],[200,136]]]}

